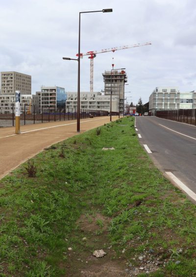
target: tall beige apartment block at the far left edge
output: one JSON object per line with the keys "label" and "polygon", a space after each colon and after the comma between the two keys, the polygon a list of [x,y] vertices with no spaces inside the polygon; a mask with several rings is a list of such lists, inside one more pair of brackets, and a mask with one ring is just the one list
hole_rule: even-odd
{"label": "tall beige apartment block at the far left edge", "polygon": [[1,94],[15,95],[16,90],[21,94],[31,94],[31,76],[15,71],[0,73]]}

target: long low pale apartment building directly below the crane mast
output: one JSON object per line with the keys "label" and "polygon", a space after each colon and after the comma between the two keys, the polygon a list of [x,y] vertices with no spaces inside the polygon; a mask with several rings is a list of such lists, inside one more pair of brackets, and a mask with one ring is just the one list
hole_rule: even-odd
{"label": "long low pale apartment building directly below the crane mast", "polygon": [[[102,95],[100,92],[81,92],[80,108],[89,110],[110,111],[110,95]],[[77,92],[68,92],[66,110],[77,110]],[[112,96],[112,111],[119,112],[119,98]]]}

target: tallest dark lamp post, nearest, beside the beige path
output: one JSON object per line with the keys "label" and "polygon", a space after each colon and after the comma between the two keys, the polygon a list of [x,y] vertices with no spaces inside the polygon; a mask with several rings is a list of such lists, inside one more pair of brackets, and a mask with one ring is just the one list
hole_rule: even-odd
{"label": "tallest dark lamp post, nearest, beside the beige path", "polygon": [[112,12],[112,9],[102,9],[100,11],[79,12],[79,37],[78,37],[78,75],[77,75],[77,132],[80,132],[80,14],[94,12]]}

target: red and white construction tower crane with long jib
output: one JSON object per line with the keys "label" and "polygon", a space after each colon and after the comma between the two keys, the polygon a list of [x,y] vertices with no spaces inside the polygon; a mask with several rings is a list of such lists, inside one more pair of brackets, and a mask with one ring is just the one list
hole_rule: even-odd
{"label": "red and white construction tower crane with long jib", "polygon": [[[93,67],[94,67],[94,58],[96,57],[97,54],[99,53],[105,53],[105,52],[115,52],[116,50],[123,50],[123,49],[128,49],[128,48],[134,48],[134,47],[139,47],[139,46],[146,46],[146,45],[151,45],[151,42],[146,42],[143,44],[133,44],[133,45],[124,45],[124,46],[120,46],[120,47],[114,47],[114,48],[106,48],[106,49],[102,49],[99,51],[89,51],[87,53],[80,53],[80,58],[83,58],[83,56],[89,56],[88,57],[90,59],[90,92],[93,92]],[[78,54],[76,54],[76,56],[78,57]]]}

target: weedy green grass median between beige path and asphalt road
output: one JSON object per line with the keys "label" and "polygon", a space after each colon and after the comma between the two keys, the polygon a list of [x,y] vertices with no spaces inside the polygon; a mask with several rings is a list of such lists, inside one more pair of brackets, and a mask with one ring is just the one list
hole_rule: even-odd
{"label": "weedy green grass median between beige path and asphalt road", "polygon": [[190,277],[195,240],[196,207],[148,158],[134,118],[53,145],[0,180],[0,277]]}

